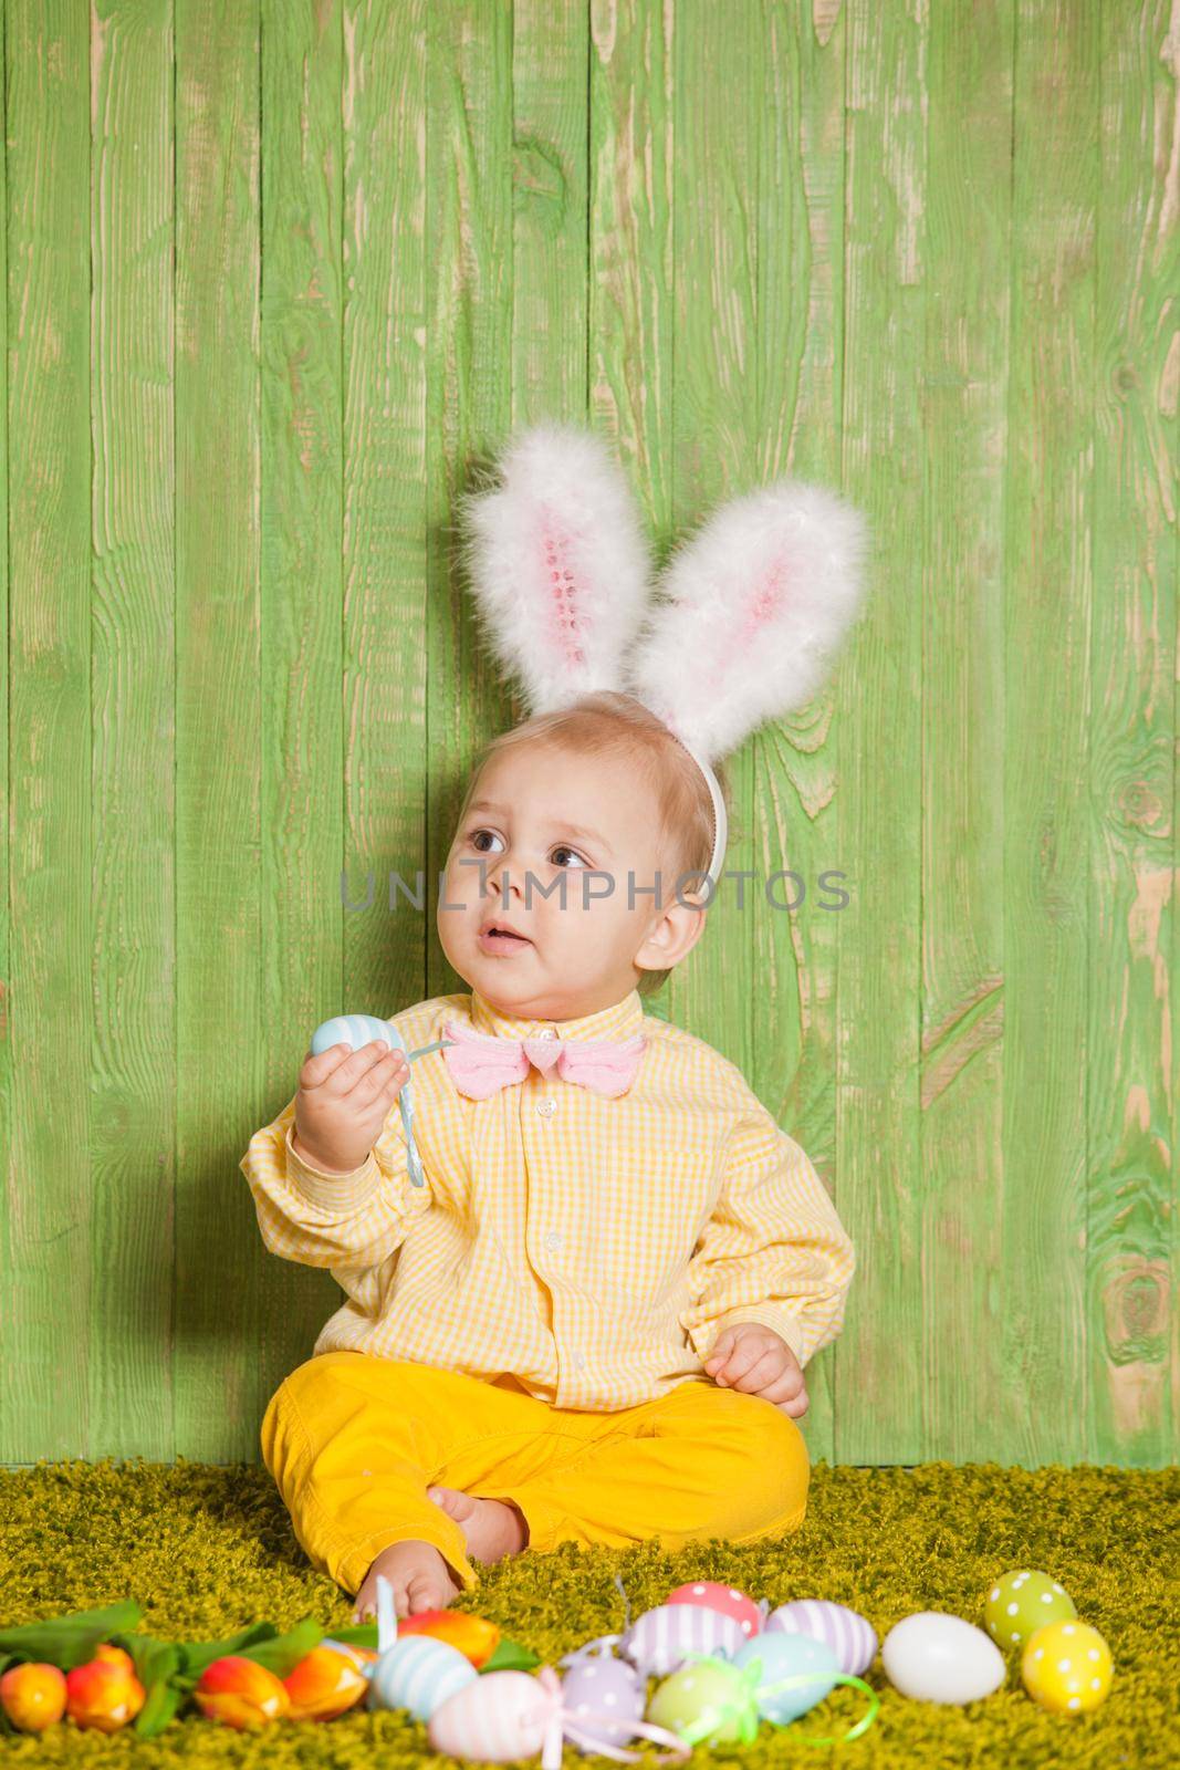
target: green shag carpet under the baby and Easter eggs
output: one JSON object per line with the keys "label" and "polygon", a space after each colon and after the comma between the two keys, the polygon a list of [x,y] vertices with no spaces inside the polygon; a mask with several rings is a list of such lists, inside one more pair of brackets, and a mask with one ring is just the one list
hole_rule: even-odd
{"label": "green shag carpet under the baby and Easter eggs", "polygon": [[[350,1598],[311,1572],[274,1483],[262,1466],[214,1467],[142,1460],[39,1464],[0,1471],[0,1627],[94,1609],[120,1598],[143,1607],[143,1630],[196,1641],[265,1620],[281,1630],[317,1616],[327,1632],[350,1618]],[[814,1747],[803,1733],[842,1735],[865,1712],[851,1687],[791,1728],[762,1722],[752,1745],[699,1745],[692,1765],[969,1766],[1069,1765],[1132,1770],[1180,1761],[1176,1634],[1180,1471],[1116,1467],[1015,1469],[1000,1464],[858,1469],[816,1464],[803,1528],[736,1549],[722,1540],[676,1552],[579,1549],[524,1556],[488,1568],[456,1609],[476,1611],[554,1664],[561,1653],[624,1623],[688,1579],[718,1579],[771,1604],[824,1597],[862,1611],[883,1639],[911,1611],[952,1611],[980,1623],[984,1593],[1008,1568],[1044,1568],[1106,1637],[1115,1683],[1090,1715],[1047,1715],[1024,1694],[1017,1655],[994,1696],[964,1708],[899,1696],[867,1673],[881,1710],[865,1735]],[[380,1766],[456,1759],[430,1751],[426,1729],[403,1713],[343,1715],[327,1724],[278,1722],[235,1733],[186,1713],[156,1740],[103,1735],[62,1722],[41,1736],[7,1736],[5,1759],[83,1765],[225,1763]],[[658,1759],[640,1747],[644,1765]],[[540,1765],[540,1758],[527,1759]],[[564,1766],[605,1766],[566,1745]]]}

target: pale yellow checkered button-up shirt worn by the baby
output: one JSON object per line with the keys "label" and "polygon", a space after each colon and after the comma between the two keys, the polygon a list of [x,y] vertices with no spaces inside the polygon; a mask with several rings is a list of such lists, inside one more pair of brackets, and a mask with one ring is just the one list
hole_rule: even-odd
{"label": "pale yellow checkered button-up shirt worn by the baby", "polygon": [[333,1177],[290,1147],[292,1096],[241,1168],[271,1253],[329,1267],[345,1292],[315,1354],[511,1374],[550,1405],[605,1412],[701,1381],[731,1322],[773,1328],[800,1365],[840,1331],[854,1255],[816,1168],[741,1071],[644,1014],[637,989],[564,1021],[501,1014],[478,991],[391,1020],[410,1051],[449,1020],[647,1046],[616,1097],[531,1067],[476,1101],[442,1051],[416,1058],[426,1186],[410,1184],[396,1104],[364,1163]]}

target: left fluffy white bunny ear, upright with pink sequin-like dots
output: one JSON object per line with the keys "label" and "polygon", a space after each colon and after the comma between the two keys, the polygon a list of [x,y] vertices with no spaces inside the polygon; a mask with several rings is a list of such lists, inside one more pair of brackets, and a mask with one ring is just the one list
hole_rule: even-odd
{"label": "left fluffy white bunny ear, upright with pink sequin-like dots", "polygon": [[623,687],[649,593],[639,510],[607,444],[571,425],[520,432],[501,485],[458,499],[483,637],[529,713]]}

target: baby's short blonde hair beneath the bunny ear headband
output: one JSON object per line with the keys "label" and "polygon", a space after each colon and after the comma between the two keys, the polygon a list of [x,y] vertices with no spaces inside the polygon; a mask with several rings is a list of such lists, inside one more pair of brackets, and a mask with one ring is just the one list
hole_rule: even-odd
{"label": "baby's short blonde hair beneath the bunny ear headband", "polygon": [[[557,743],[579,756],[619,756],[639,768],[642,779],[655,788],[658,805],[660,901],[672,901],[678,889],[688,897],[697,880],[685,874],[699,873],[704,878],[713,855],[713,800],[685,745],[633,694],[596,689],[568,706],[534,713],[511,731],[490,738],[472,763],[458,820],[465,818],[479,772],[494,756],[520,743],[541,742]],[[720,763],[711,766],[729,816],[729,781]],[[670,860],[667,867],[665,857]],[[655,995],[667,977],[670,970],[644,972],[639,993]]]}

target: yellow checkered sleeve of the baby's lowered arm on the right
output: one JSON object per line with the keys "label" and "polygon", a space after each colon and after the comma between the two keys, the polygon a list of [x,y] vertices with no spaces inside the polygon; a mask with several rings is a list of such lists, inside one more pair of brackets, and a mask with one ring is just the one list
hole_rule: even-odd
{"label": "yellow checkered sleeve of the baby's lowered arm on the right", "polygon": [[722,1328],[748,1320],[773,1328],[803,1366],[844,1324],[856,1257],[807,1154],[752,1089],[745,1104],[688,1262],[697,1301],[679,1324],[702,1363]]}

